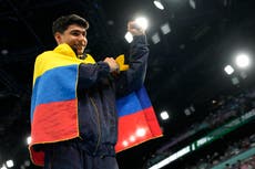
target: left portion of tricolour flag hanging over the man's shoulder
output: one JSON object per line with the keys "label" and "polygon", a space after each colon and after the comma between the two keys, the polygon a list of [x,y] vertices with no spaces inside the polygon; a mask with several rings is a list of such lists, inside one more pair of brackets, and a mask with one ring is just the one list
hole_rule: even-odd
{"label": "left portion of tricolour flag hanging over the man's shoulder", "polygon": [[79,60],[68,44],[37,57],[31,98],[30,156],[35,165],[43,166],[43,151],[38,144],[57,142],[79,137],[76,83],[80,63],[95,63],[88,55]]}

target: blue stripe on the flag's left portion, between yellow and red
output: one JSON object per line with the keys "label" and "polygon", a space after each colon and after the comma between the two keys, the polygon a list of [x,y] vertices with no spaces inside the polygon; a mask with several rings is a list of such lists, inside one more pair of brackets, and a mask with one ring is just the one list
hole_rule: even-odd
{"label": "blue stripe on the flag's left portion, between yellow and red", "polygon": [[[33,86],[34,92],[31,103],[31,119],[34,108],[40,104],[62,102],[75,98],[76,76],[76,64],[55,67],[47,71],[43,75],[39,76],[35,80]],[[40,97],[37,97],[37,95],[39,95]]]}

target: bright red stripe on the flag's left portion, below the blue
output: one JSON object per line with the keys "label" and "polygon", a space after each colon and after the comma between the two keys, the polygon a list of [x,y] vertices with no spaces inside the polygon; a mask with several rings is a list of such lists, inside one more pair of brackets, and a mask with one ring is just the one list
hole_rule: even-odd
{"label": "bright red stripe on the flag's left portion, below the blue", "polygon": [[76,104],[76,99],[72,99],[38,105],[32,122],[32,144],[79,136]]}

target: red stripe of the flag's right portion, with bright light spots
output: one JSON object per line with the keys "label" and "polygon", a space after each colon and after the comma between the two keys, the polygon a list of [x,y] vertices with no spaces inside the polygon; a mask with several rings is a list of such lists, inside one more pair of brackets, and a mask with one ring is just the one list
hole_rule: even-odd
{"label": "red stripe of the flag's right portion, with bright light spots", "polygon": [[160,137],[162,131],[152,107],[119,118],[116,152]]}

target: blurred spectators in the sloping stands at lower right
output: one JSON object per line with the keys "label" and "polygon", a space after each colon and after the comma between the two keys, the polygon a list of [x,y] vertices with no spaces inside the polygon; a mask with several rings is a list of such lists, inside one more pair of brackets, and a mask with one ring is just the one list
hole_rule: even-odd
{"label": "blurred spectators in the sloping stands at lower right", "polygon": [[[152,158],[147,160],[146,166],[152,166],[155,161],[160,161],[170,156],[172,148],[182,140],[203,130],[213,130],[232,119],[241,117],[254,108],[255,88],[242,91],[235,96],[221,96],[214,101],[213,106],[208,109],[208,115],[202,122],[192,124],[186,131],[176,136],[161,149],[157,149]],[[254,123],[254,119],[252,123]],[[243,139],[239,138],[238,141],[230,141],[226,145],[228,145],[228,147],[226,147],[224,151],[208,154],[205,158],[197,160],[198,162],[195,165],[192,163],[188,166],[187,163],[185,169],[211,169],[251,148],[255,148],[255,134]],[[224,163],[224,168],[222,169],[255,169],[255,152],[254,156],[247,159],[236,160],[234,163]]]}

